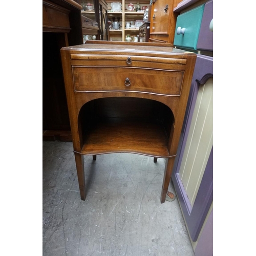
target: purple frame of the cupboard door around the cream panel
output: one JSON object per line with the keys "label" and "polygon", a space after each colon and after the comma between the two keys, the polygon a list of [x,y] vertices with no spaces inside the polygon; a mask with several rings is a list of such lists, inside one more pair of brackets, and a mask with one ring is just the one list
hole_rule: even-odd
{"label": "purple frame of the cupboard door around the cream panel", "polygon": [[181,178],[179,176],[179,170],[185,150],[193,111],[195,109],[199,87],[205,84],[205,82],[211,77],[213,77],[213,58],[210,56],[198,54],[182,128],[181,139],[179,142],[178,154],[176,157],[172,176],[177,196],[179,198],[180,205],[187,223],[188,231],[193,241],[197,241],[198,239],[199,232],[201,231],[205,217],[213,200],[213,147],[211,148],[211,152],[204,170],[204,175],[198,190],[197,198],[193,208],[190,209],[189,201],[186,197],[186,194],[184,193]]}

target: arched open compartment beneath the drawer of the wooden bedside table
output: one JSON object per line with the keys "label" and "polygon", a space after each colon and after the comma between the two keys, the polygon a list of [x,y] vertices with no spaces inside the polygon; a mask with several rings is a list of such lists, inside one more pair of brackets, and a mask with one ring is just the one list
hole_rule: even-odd
{"label": "arched open compartment beneath the drawer of the wooden bedside table", "polygon": [[136,153],[170,157],[172,111],[163,103],[142,98],[100,98],[80,111],[81,154]]}

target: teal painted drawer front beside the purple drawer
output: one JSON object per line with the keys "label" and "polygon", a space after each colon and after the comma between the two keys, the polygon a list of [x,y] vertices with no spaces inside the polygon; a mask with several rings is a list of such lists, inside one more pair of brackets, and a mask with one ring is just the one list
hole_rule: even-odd
{"label": "teal painted drawer front beside the purple drawer", "polygon": [[[200,5],[190,11],[180,14],[176,22],[176,34],[174,37],[174,45],[197,49],[197,40],[202,22],[204,5]],[[185,28],[184,34],[177,34],[178,27]]]}

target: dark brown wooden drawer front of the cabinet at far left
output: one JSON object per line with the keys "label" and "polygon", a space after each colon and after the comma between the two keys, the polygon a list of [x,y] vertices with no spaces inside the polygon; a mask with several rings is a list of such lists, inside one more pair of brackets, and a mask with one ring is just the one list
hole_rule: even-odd
{"label": "dark brown wooden drawer front of the cabinet at far left", "polygon": [[42,2],[42,28],[43,31],[69,32],[69,10],[58,5]]}

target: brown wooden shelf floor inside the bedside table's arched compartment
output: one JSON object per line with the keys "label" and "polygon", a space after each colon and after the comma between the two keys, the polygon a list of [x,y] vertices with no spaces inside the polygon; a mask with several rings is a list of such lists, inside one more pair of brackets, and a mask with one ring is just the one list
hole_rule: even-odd
{"label": "brown wooden shelf floor inside the bedside table's arched compartment", "polygon": [[137,153],[153,157],[170,157],[168,137],[157,120],[108,118],[95,122],[84,136],[83,155]]}

